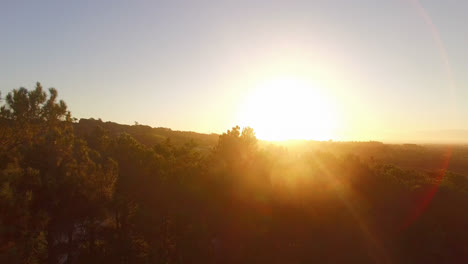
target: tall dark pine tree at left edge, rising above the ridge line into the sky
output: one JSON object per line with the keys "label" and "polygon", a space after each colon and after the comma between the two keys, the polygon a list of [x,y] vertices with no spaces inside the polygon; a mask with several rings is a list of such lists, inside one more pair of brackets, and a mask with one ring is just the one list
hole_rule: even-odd
{"label": "tall dark pine tree at left edge, rising above the ridge line into the sky", "polygon": [[9,198],[1,204],[8,211],[1,214],[7,227],[1,237],[11,245],[11,262],[71,261],[78,226],[96,221],[96,206],[112,194],[114,165],[91,158],[57,95],[37,83],[32,91],[13,90],[0,109],[1,186]]}

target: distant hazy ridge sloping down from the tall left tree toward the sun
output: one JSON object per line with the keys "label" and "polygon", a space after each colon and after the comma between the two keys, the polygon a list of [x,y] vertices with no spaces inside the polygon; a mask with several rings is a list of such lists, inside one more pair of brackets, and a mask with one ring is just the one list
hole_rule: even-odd
{"label": "distant hazy ridge sloping down from the tall left tree toward the sun", "polygon": [[140,143],[149,147],[161,143],[169,139],[175,145],[185,144],[191,140],[195,141],[200,151],[211,149],[218,141],[217,134],[201,134],[191,131],[176,131],[164,127],[150,127],[145,125],[122,125],[114,122],[103,122],[102,120],[80,119],[74,124],[75,131],[78,135],[86,138],[95,131],[97,127],[101,127],[109,131],[113,135],[128,133]]}

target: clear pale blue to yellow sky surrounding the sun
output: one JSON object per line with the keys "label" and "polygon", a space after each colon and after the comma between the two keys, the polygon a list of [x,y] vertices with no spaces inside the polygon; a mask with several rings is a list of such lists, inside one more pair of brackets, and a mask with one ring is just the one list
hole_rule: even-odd
{"label": "clear pale blue to yellow sky surrounding the sun", "polygon": [[[468,129],[467,12],[454,0],[2,0],[0,90],[40,81],[77,118],[221,133],[265,83],[306,80],[315,92],[297,100],[326,99],[296,122],[333,112],[330,138],[410,139]],[[307,101],[287,98],[277,108]]]}

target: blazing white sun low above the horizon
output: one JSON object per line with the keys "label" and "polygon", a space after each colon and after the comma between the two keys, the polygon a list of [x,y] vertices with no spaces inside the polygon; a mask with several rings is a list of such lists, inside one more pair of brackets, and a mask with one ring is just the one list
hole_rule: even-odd
{"label": "blazing white sun low above the horizon", "polygon": [[329,140],[337,125],[335,109],[308,81],[278,78],[259,84],[238,111],[238,123],[262,140]]}

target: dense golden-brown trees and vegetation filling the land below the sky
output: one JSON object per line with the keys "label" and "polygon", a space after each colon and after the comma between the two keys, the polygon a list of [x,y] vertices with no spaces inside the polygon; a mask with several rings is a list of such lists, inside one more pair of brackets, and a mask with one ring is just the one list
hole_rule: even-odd
{"label": "dense golden-brown trees and vegetation filling the land below the sky", "polygon": [[467,161],[76,122],[38,83],[0,112],[0,262],[468,263]]}

